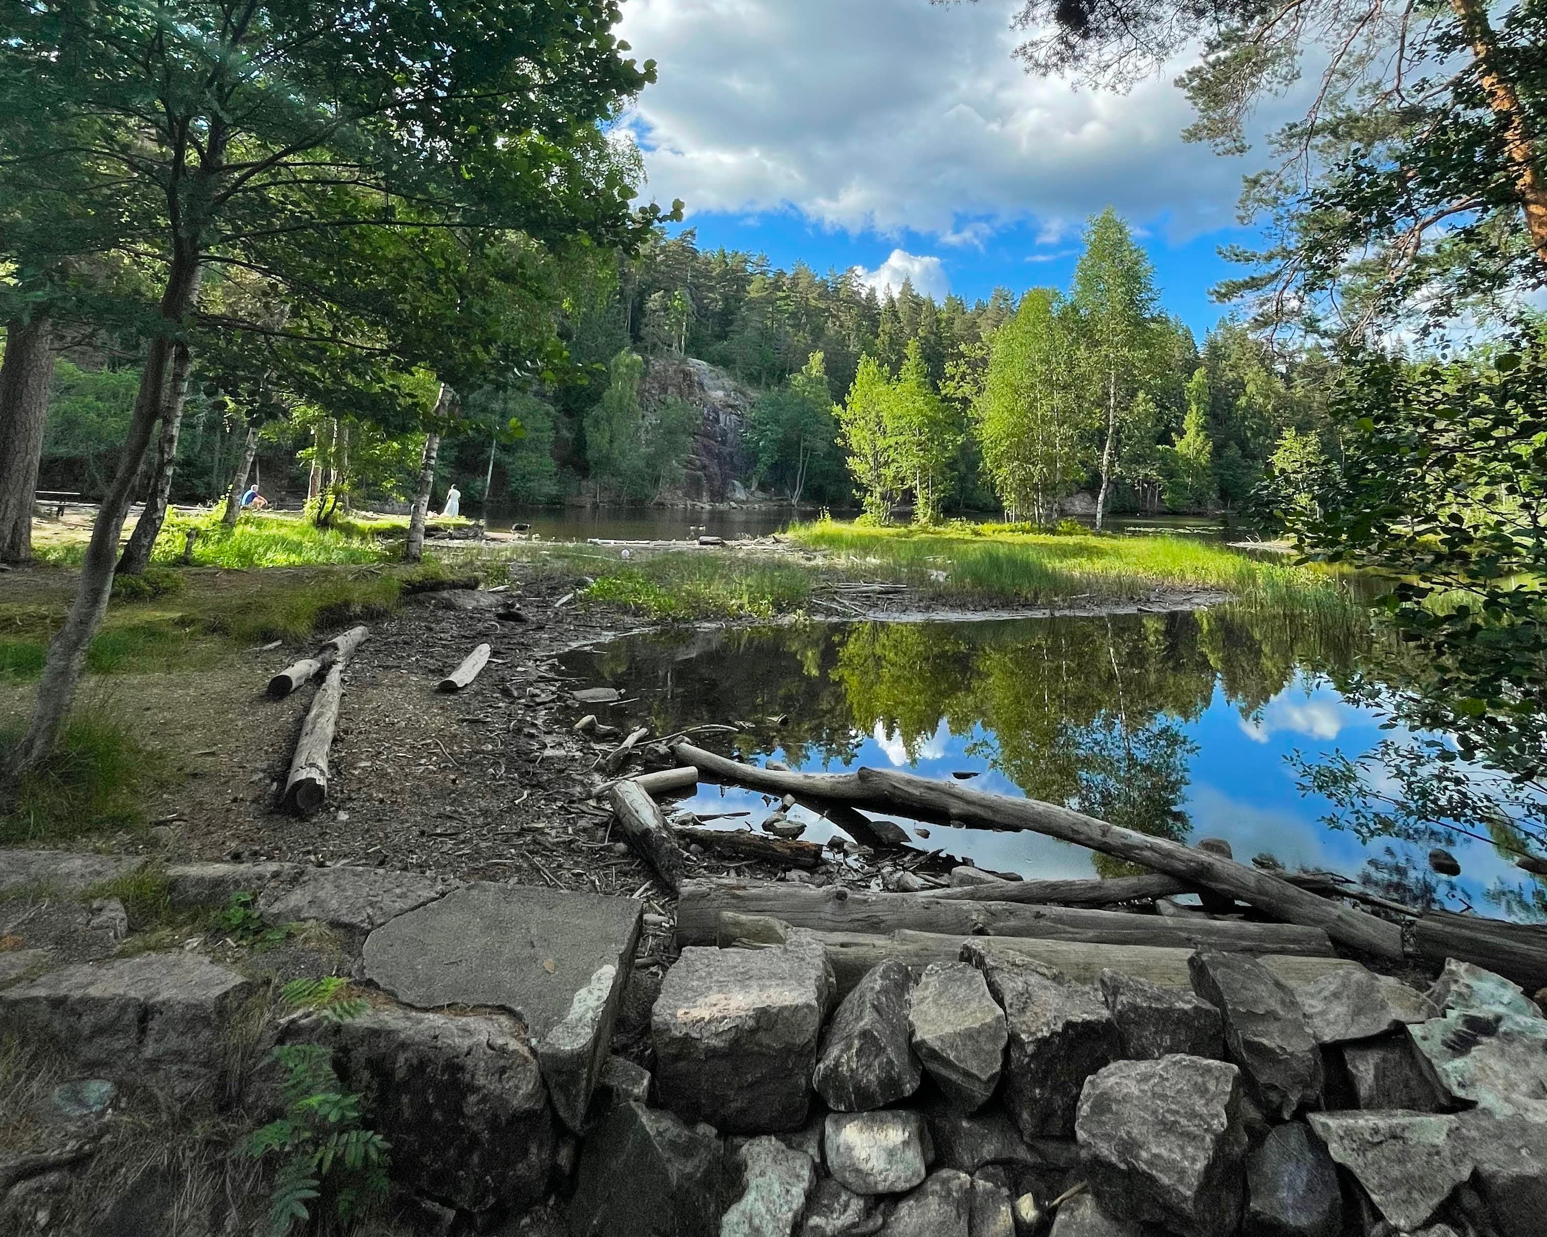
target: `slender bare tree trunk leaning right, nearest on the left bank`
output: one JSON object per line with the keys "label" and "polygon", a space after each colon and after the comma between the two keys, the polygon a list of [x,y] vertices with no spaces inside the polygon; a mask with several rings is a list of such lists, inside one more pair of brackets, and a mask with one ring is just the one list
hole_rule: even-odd
{"label": "slender bare tree trunk leaning right, nearest on the left bank", "polygon": [[[172,269],[167,272],[167,289],[161,297],[162,329],[181,325],[187,319],[198,297],[198,255],[179,249],[173,255]],[[74,702],[76,687],[85,671],[87,649],[102,625],[108,597],[113,595],[118,538],[124,532],[124,516],[128,515],[139,464],[145,458],[156,417],[161,414],[172,351],[170,334],[158,334],[145,349],[145,368],[139,376],[139,391],[135,394],[135,410],[124,436],[118,473],[102,496],[102,507],[91,527],[91,540],[80,564],[80,584],[70,606],[70,615],[48,646],[43,677],[37,683],[32,721],[12,758],[17,772],[36,767],[54,750],[70,705]]]}

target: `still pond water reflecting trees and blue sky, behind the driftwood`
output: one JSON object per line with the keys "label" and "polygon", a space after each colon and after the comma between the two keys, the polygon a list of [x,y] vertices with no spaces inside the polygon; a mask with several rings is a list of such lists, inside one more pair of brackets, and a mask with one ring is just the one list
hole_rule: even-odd
{"label": "still pond water reflecting trees and blue sky, behind the driftwood", "polygon": [[[1196,841],[1225,838],[1238,860],[1358,875],[1383,844],[1361,846],[1303,796],[1292,751],[1369,751],[1392,731],[1338,683],[1371,659],[1351,614],[1196,612],[993,622],[803,623],[633,636],[572,653],[568,673],[628,704],[603,721],[664,734],[701,722],[744,725],[736,755],[800,770],[905,768],[1002,795],[1063,803],[1103,820]],[[1395,731],[1398,736],[1402,731]],[[764,796],[702,784],[701,815],[767,812]],[[831,827],[809,821],[806,837]],[[726,821],[730,824],[732,821]],[[1033,833],[930,826],[920,849],[1023,877],[1089,877],[1097,860]],[[1398,847],[1400,850],[1400,847]],[[1519,877],[1491,846],[1453,847],[1454,909]],[[1423,854],[1417,852],[1422,867]]]}

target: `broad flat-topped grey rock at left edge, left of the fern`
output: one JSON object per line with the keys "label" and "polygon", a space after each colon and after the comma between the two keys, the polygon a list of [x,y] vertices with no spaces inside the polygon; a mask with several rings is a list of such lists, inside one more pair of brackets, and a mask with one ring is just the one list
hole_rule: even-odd
{"label": "broad flat-topped grey rock at left edge, left of the fern", "polygon": [[213,1082],[226,1027],[251,991],[248,979],[201,954],[79,963],[0,991],[0,1034],[186,1096]]}

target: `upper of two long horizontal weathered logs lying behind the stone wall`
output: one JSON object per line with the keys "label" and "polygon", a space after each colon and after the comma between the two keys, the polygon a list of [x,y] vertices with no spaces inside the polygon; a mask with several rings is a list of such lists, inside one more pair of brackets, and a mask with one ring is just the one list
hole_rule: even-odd
{"label": "upper of two long horizontal weathered logs lying behind the stone wall", "polygon": [[690,880],[678,897],[678,945],[709,945],[719,915],[772,915],[821,932],[896,931],[944,935],[1038,937],[1091,945],[1170,945],[1252,954],[1330,954],[1318,928],[1290,923],[1134,915],[1067,906],[961,901],[928,894],[868,894],[842,886],[814,889],[781,881]]}

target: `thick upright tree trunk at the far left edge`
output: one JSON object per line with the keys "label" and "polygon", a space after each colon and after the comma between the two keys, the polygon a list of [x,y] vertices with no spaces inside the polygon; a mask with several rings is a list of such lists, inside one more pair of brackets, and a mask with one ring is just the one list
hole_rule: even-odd
{"label": "thick upright tree trunk at the far left edge", "polygon": [[32,557],[32,492],[54,377],[54,323],[6,323],[0,362],[0,563]]}

